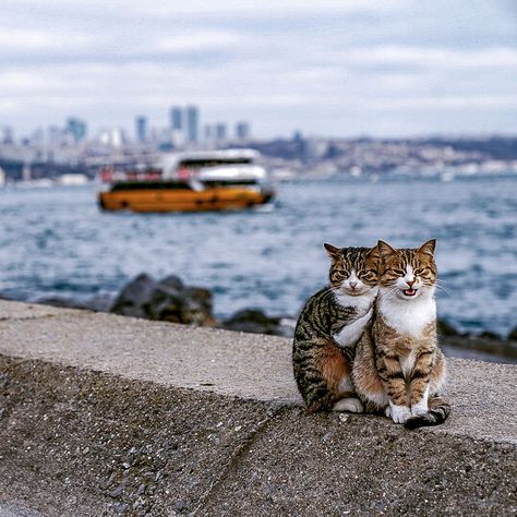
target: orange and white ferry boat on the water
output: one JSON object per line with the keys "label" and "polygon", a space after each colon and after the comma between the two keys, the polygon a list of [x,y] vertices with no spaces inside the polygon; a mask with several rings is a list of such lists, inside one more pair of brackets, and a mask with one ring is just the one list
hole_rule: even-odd
{"label": "orange and white ferry boat on the water", "polygon": [[249,208],[269,202],[274,190],[253,149],[226,149],[165,156],[158,165],[116,170],[100,178],[106,211],[205,212]]}

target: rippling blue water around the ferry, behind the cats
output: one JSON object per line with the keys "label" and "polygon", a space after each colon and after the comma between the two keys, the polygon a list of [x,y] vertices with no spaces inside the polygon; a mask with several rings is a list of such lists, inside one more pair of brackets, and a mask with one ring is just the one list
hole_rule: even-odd
{"label": "rippling blue water around the ferry, behind the cats", "polygon": [[279,187],[273,209],[101,213],[94,187],[0,190],[0,296],[75,299],[147,272],[211,288],[215,312],[296,315],[326,282],[323,242],[437,239],[438,312],[462,329],[517,326],[517,178],[330,179]]}

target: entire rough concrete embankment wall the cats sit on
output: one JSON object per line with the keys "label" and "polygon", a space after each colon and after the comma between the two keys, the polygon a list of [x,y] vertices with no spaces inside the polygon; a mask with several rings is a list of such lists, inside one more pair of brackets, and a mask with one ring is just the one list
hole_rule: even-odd
{"label": "entire rough concrete embankment wall the cats sit on", "polygon": [[449,360],[407,431],[305,414],[290,347],[0,301],[0,515],[515,515],[517,366]]}

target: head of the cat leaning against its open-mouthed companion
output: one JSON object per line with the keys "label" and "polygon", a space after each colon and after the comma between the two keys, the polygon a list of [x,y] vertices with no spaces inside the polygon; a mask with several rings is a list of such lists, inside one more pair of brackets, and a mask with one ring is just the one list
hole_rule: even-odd
{"label": "head of the cat leaning against its open-mouthed companion", "polygon": [[359,297],[377,288],[378,251],[373,248],[336,248],[324,244],[332,258],[330,287],[344,294]]}

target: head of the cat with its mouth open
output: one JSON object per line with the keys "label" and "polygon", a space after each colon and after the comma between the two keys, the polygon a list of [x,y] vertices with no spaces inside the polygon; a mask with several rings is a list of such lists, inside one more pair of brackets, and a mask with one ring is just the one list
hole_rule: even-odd
{"label": "head of the cat with its mouth open", "polygon": [[378,241],[381,289],[392,298],[404,300],[433,294],[436,285],[435,247],[434,239],[420,248],[398,250]]}

